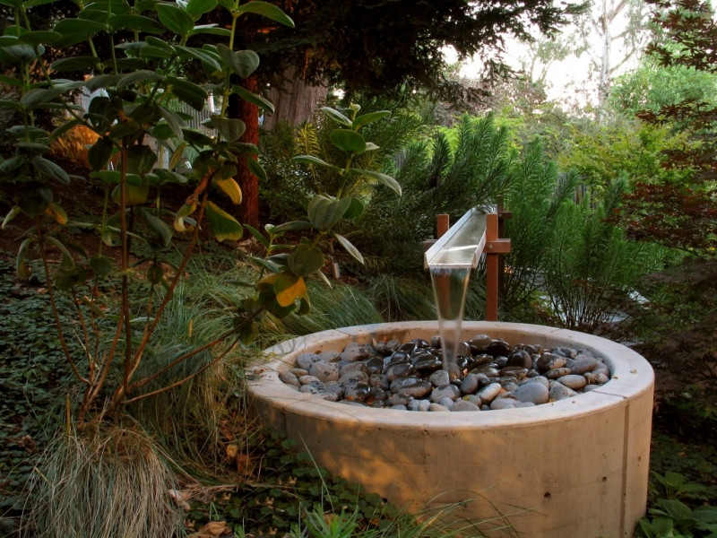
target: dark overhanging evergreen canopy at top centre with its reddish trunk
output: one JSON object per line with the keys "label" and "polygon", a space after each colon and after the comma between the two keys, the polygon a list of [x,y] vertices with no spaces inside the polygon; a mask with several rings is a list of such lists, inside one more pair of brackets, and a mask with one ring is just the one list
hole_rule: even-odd
{"label": "dark overhanging evergreen canopy at top centre with its reddish trunk", "polygon": [[[257,19],[243,29],[235,44],[262,57],[256,72],[258,87],[276,85],[281,75],[293,70],[293,77],[307,86],[341,87],[347,99],[359,91],[364,97],[399,96],[417,89],[459,99],[466,91],[445,77],[442,48],[446,45],[461,58],[481,56],[487,74],[502,73],[505,65],[500,55],[506,39],[531,39],[535,29],[549,34],[566,23],[567,15],[579,11],[575,4],[558,7],[551,0],[274,0],[272,4],[289,13],[296,30],[285,31]],[[281,106],[297,108],[296,101],[307,101],[306,94],[299,90],[292,99],[281,100]],[[250,126],[255,121],[241,119]],[[239,220],[256,223],[257,179],[240,170],[238,180],[244,192]]]}

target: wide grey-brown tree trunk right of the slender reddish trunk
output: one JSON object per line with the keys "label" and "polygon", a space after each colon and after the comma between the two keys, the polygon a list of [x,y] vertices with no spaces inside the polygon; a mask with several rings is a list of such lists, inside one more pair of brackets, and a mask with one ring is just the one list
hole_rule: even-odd
{"label": "wide grey-brown tree trunk right of the slender reddish trunk", "polygon": [[269,100],[274,104],[274,113],[264,117],[263,128],[267,131],[271,131],[280,121],[285,121],[290,126],[311,121],[315,109],[319,103],[326,100],[328,94],[326,86],[307,85],[293,66],[289,66],[284,71],[282,82],[280,87],[272,86],[269,91]]}

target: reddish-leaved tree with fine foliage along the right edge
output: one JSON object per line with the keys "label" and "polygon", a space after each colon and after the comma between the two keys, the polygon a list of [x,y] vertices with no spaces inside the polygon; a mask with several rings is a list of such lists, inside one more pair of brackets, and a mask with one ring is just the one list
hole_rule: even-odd
{"label": "reddish-leaved tree with fine foliage along the right edge", "polygon": [[[647,52],[659,64],[717,73],[717,23],[712,8],[696,0],[653,1],[654,22],[666,39],[652,42]],[[686,136],[688,143],[663,152],[662,166],[682,170],[678,181],[671,175],[638,184],[623,213],[635,237],[680,247],[703,257],[714,257],[717,247],[717,108],[705,100],[684,96],[657,110],[644,110],[645,122],[668,126]]]}

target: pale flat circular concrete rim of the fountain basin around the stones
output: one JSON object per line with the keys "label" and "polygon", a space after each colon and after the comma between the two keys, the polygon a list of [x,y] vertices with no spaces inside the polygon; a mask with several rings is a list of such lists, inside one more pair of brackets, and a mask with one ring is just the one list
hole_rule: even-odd
{"label": "pale flat circular concrete rim of the fountain basin around the stones", "polygon": [[412,337],[425,338],[437,334],[438,325],[436,321],[357,325],[309,334],[277,344],[264,351],[266,356],[274,357],[274,360],[248,370],[248,390],[258,400],[271,401],[272,406],[299,415],[346,423],[360,421],[376,428],[405,427],[425,431],[519,426],[564,420],[566,416],[579,417],[618,406],[627,399],[652,391],[652,367],[642,356],[622,344],[566,329],[505,322],[464,322],[462,333],[465,338],[485,333],[493,338],[505,338],[511,344],[523,342],[588,348],[608,365],[611,379],[598,389],[559,402],[489,412],[407,412],[347,405],[326,401],[318,395],[300,393],[279,379],[279,372],[291,368],[300,353],[341,351],[346,343],[352,341],[370,343],[372,338],[401,338],[401,334],[408,332]]}

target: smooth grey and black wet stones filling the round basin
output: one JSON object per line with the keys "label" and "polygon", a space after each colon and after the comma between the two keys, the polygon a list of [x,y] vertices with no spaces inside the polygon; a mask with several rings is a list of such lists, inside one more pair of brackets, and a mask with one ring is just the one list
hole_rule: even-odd
{"label": "smooth grey and black wet stones filling the round basin", "polygon": [[440,336],[349,343],[343,351],[303,353],[281,381],[325,400],[409,411],[489,411],[548,404],[609,381],[591,350],[511,346],[478,334],[459,343],[443,368]]}

